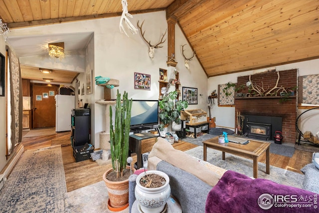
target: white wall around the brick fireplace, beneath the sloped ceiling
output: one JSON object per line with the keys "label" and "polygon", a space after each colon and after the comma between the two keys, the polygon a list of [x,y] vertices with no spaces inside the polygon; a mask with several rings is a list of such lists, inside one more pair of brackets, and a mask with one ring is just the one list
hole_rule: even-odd
{"label": "white wall around the brick fireplace, beneath the sloped ceiling", "polygon": [[[276,66],[277,70],[299,69],[299,76],[319,74],[319,59],[291,63]],[[256,74],[265,71],[265,69],[251,70],[241,73],[234,73],[228,75],[221,75],[211,77],[208,79],[208,94],[216,89],[218,91],[218,84],[225,84],[228,82],[237,82],[238,76],[247,76],[250,74]],[[211,110],[212,117],[216,117],[216,126],[224,126],[234,129],[235,126],[235,107],[218,107],[217,99],[216,105]],[[305,110],[299,110],[298,115]],[[305,131],[311,131],[314,135],[319,131],[319,114],[318,110],[312,110],[305,113],[299,120],[299,128],[304,133]],[[315,122],[316,121],[316,122]]]}

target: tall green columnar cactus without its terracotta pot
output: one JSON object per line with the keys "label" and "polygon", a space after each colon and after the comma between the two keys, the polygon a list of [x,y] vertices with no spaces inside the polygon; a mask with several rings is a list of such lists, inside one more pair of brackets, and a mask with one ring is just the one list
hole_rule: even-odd
{"label": "tall green columnar cactus without its terracotta pot", "polygon": [[124,91],[123,100],[117,91],[115,124],[112,122],[112,106],[110,106],[110,143],[112,167],[116,172],[116,178],[123,177],[123,170],[127,165],[129,155],[129,137],[131,123],[132,99],[128,99],[128,93]]}

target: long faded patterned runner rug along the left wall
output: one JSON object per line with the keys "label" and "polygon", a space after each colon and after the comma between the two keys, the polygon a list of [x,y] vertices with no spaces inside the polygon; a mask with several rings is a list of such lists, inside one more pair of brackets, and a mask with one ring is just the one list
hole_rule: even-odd
{"label": "long faded patterned runner rug along the left wall", "polygon": [[65,193],[61,146],[26,150],[0,192],[0,210],[63,213]]}

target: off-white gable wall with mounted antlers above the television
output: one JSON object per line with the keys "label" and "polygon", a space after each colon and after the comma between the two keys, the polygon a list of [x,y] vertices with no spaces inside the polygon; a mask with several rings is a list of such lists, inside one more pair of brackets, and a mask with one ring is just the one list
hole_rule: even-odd
{"label": "off-white gable wall with mounted antlers above the television", "polygon": [[[143,29],[145,37],[151,40],[152,44],[160,41],[161,33],[167,29],[165,11],[137,14],[131,20],[136,26],[137,21],[144,22]],[[10,36],[19,35],[43,35],[56,33],[76,33],[76,32],[94,32],[94,46],[88,44],[85,50],[85,72],[88,69],[93,70],[93,79],[95,76],[110,77],[120,80],[120,86],[112,90],[112,98],[116,97],[116,90],[119,89],[123,94],[127,91],[129,98],[133,99],[152,99],[159,98],[159,68],[167,69],[172,72],[174,67],[167,67],[167,39],[162,48],[155,50],[155,58],[151,60],[148,56],[148,44],[138,34],[126,36],[119,30],[120,17],[111,17],[95,20],[77,21],[72,23],[61,23],[47,26],[35,26],[21,29],[12,29]],[[190,71],[183,65],[183,57],[180,53],[180,45],[187,43],[179,27],[175,27],[175,53],[177,69],[181,86],[198,88],[198,105],[189,105],[189,109],[207,109],[207,77],[200,67],[198,61],[194,58],[189,62]],[[167,34],[165,35],[167,38]],[[90,42],[92,42],[90,41]],[[67,44],[65,44],[67,45]],[[189,46],[185,46],[185,49]],[[90,54],[94,51],[94,54]],[[187,52],[185,52],[187,54]],[[188,54],[187,54],[188,55]],[[89,57],[89,58],[87,58]],[[23,59],[26,60],[26,59]],[[67,61],[67,58],[64,59]],[[93,61],[93,62],[92,62]],[[31,63],[31,62],[28,62]],[[73,66],[73,65],[72,65]],[[134,89],[134,72],[151,74],[151,90]],[[169,76],[169,74],[168,74]],[[80,74],[78,79],[85,82],[85,73]],[[74,83],[75,84],[75,83]],[[84,95],[81,98],[83,102],[88,102],[91,107],[91,140],[92,144],[99,147],[99,134],[105,129],[105,105],[95,104],[95,101],[103,99],[104,89],[96,86],[93,82],[93,94]]]}

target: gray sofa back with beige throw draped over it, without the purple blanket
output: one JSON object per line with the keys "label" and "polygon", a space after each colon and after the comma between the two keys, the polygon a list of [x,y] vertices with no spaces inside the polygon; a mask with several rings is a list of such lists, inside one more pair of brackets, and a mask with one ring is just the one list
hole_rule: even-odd
{"label": "gray sofa back with beige throw draped over it, without the purple blanket", "polygon": [[[179,202],[183,213],[204,213],[209,191],[226,170],[188,156],[179,150],[174,150],[167,141],[164,139],[163,141],[159,138],[159,141],[154,145],[149,155],[148,170],[159,170],[169,176],[171,195]],[[159,149],[167,156],[159,154]],[[167,150],[170,150],[173,154]],[[172,155],[174,157],[172,157]],[[175,162],[172,162],[170,159],[174,159],[176,162],[179,161],[182,166],[177,166]],[[184,168],[181,169],[180,167]],[[216,170],[219,175],[216,176],[217,173],[213,170]],[[212,181],[214,176],[216,176],[218,180]],[[136,177],[137,175],[130,177],[130,212],[135,201],[134,189],[136,186]]]}

